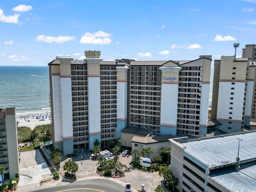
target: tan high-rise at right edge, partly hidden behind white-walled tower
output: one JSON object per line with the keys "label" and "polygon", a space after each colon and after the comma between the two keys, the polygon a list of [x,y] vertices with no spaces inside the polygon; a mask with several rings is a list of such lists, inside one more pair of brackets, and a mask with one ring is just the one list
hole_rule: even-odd
{"label": "tan high-rise at right edge, partly hidden behind white-walled tower", "polygon": [[[251,109],[251,119],[256,119],[256,73],[255,73],[255,66],[256,66],[256,44],[246,45],[245,48],[242,49],[242,57],[248,58],[250,60],[250,67],[249,67],[249,74],[248,77],[248,86],[252,87],[252,109]],[[248,90],[247,90],[248,92]],[[249,106],[248,106],[249,108]]]}

